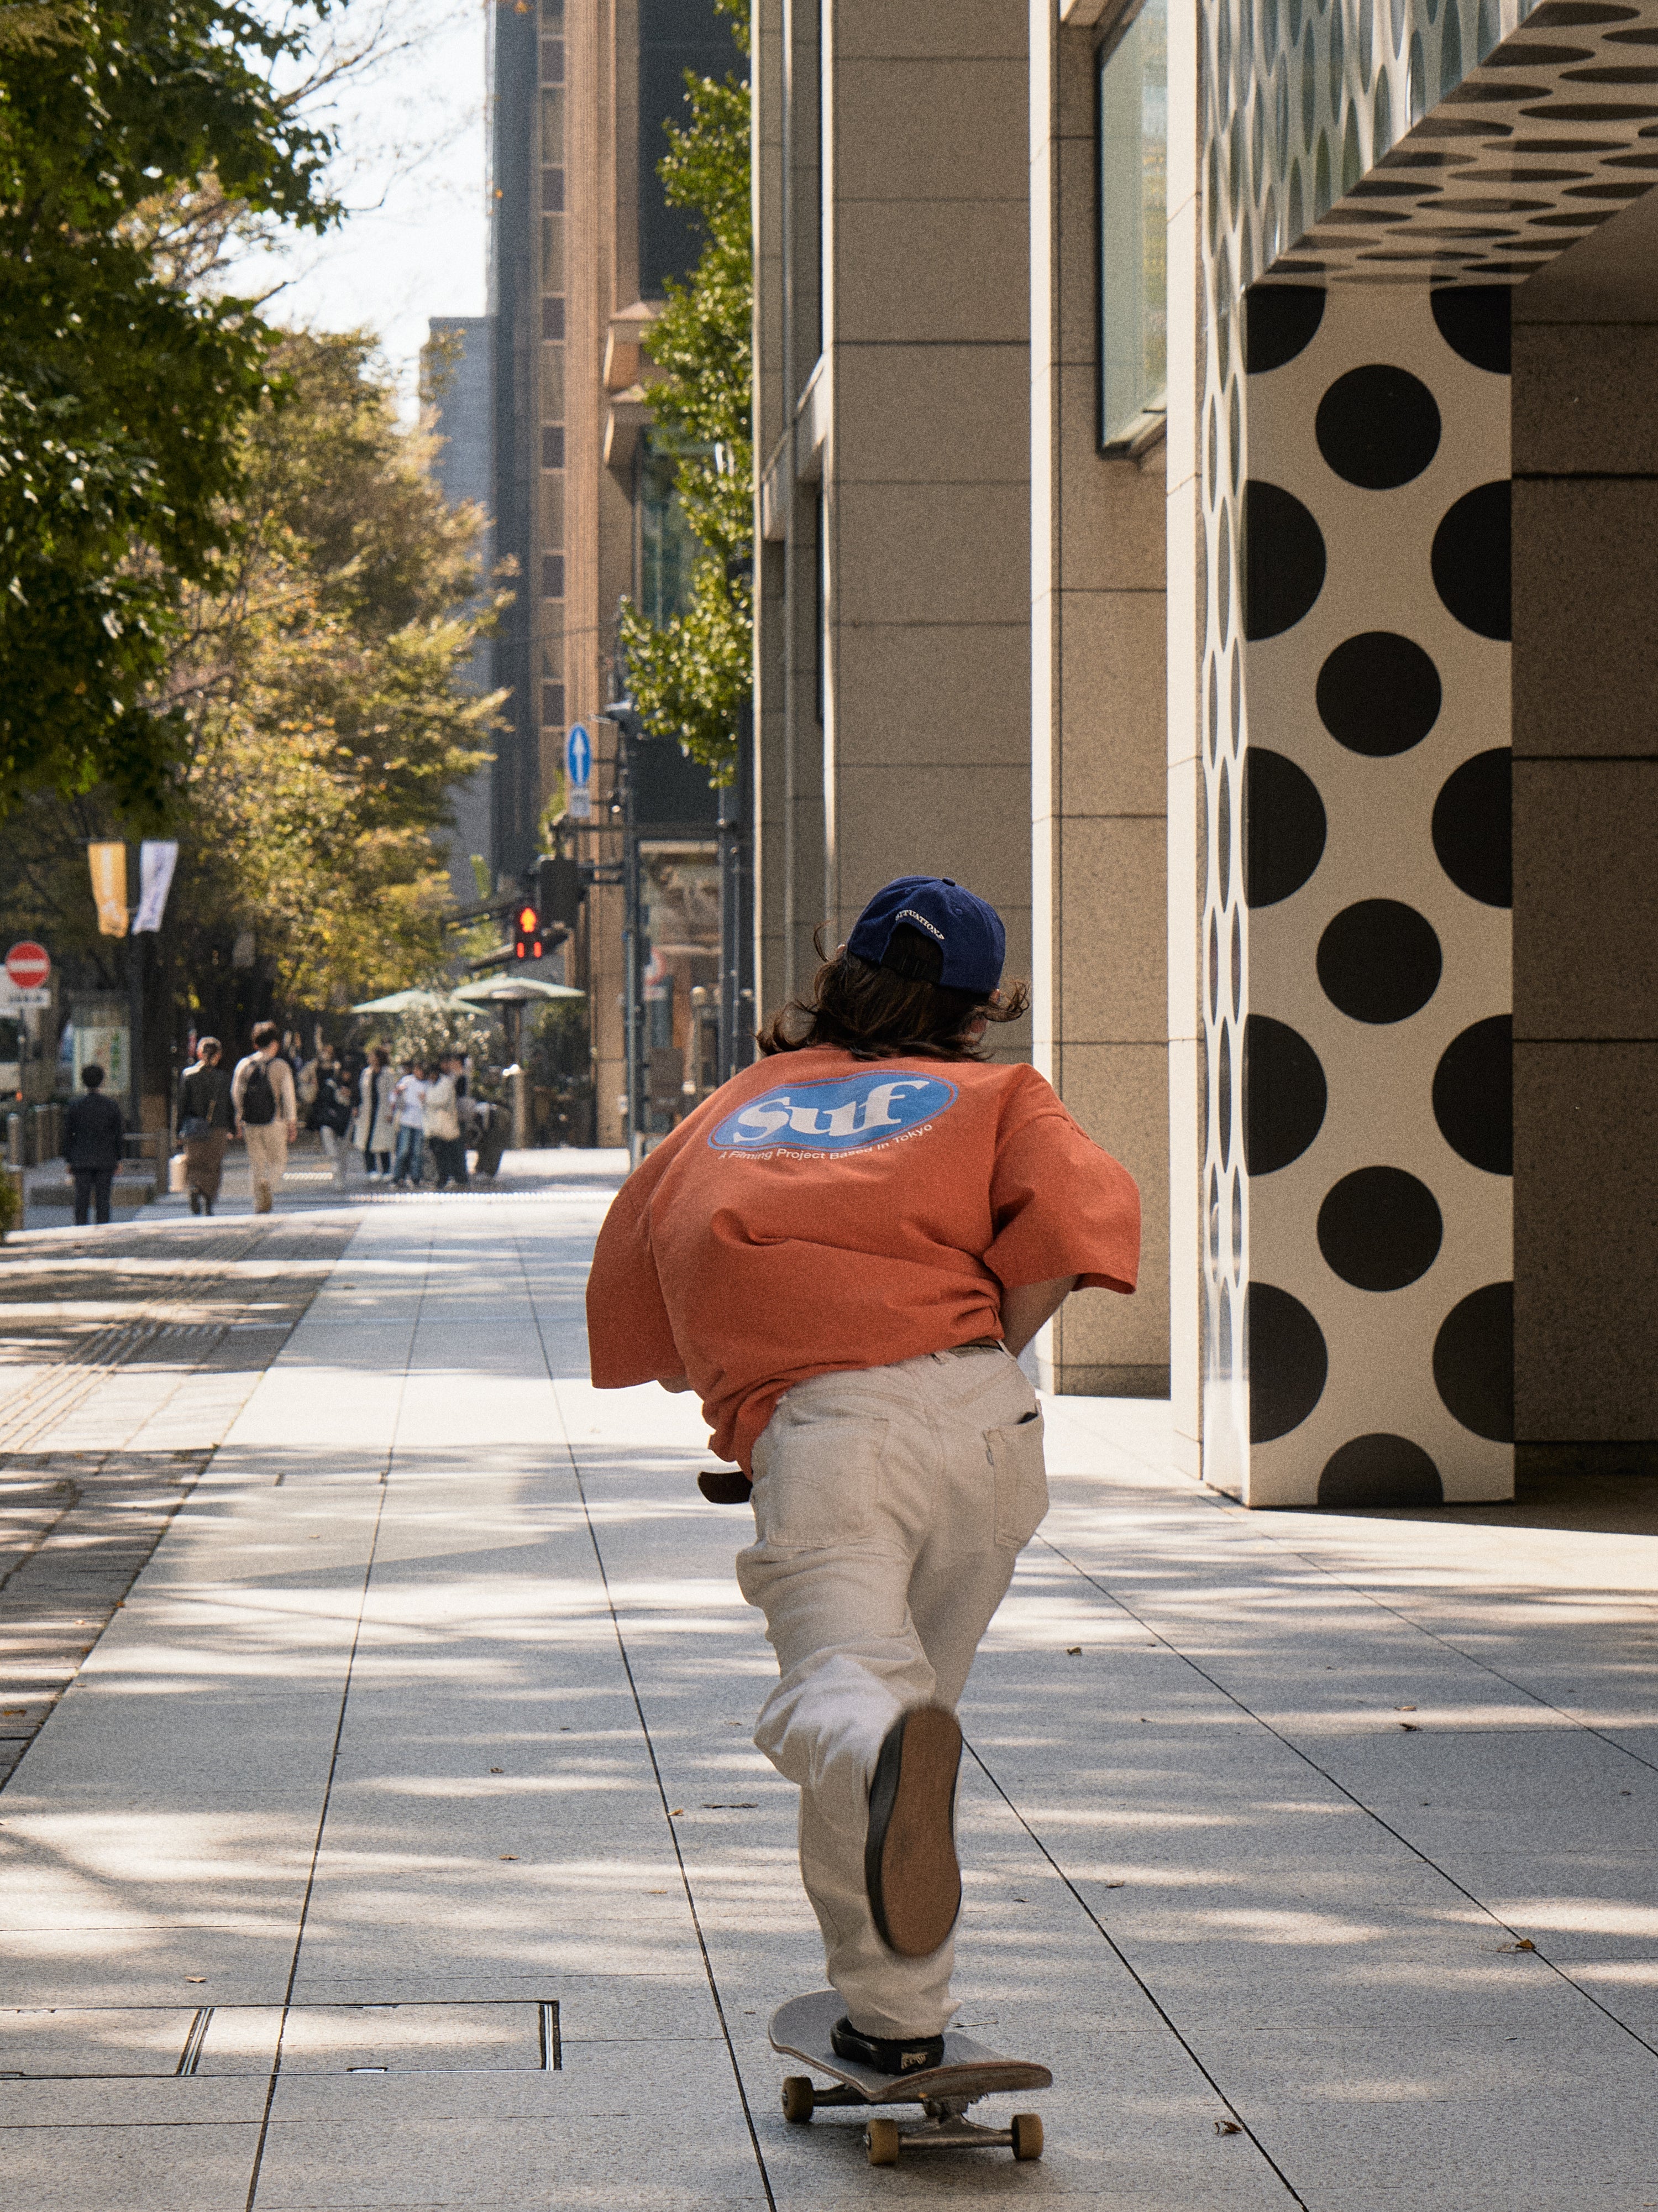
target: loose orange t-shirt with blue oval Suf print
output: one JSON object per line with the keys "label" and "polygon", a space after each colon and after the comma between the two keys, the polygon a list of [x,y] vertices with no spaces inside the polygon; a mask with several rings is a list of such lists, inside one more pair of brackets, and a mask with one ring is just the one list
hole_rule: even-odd
{"label": "loose orange t-shirt with blue oval Suf print", "polygon": [[1141,1197],[1026,1066],[814,1044],[732,1077],[606,1214],[599,1389],[688,1376],[749,1467],[785,1389],[1001,1334],[1001,1290],[1134,1290]]}

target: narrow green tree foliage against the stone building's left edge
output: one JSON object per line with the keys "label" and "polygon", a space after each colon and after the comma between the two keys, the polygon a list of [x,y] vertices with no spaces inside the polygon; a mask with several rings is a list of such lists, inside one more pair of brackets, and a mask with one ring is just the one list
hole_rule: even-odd
{"label": "narrow green tree foliage against the stone building's left edge", "polygon": [[[749,51],[749,0],[716,0]],[[732,774],[736,719],[754,690],[754,228],[749,88],[685,71],[690,122],[668,126],[659,175],[668,199],[703,223],[690,283],[668,281],[650,327],[657,422],[676,445],[674,484],[703,544],[690,606],[665,624],[621,608],[628,681],[646,730]]]}

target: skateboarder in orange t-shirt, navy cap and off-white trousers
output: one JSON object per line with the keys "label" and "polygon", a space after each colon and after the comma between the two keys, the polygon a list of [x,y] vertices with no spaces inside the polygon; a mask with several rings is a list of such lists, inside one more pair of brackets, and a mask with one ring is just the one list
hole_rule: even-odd
{"label": "skateboarder in orange t-shirt, navy cap and off-white trousers", "polygon": [[973,891],[889,883],[628,1177],[588,1281],[595,1385],[694,1389],[752,1475],[736,1573],[780,1670],[754,1741],[800,1787],[833,2048],[893,2075],[955,2011],[955,1705],[1048,1509],[1017,1354],[1138,1265],[1130,1175],[986,1060],[1028,1004],[1001,962]]}

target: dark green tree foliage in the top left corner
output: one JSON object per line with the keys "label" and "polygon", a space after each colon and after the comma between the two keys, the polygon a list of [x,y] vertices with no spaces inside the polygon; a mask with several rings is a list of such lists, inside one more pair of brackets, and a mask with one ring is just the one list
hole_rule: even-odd
{"label": "dark green tree foliage in the top left corner", "polygon": [[[327,0],[323,0],[327,4]],[[0,810],[155,816],[186,745],[155,690],[234,535],[267,332],[175,281],[170,190],[323,228],[325,133],[274,77],[307,40],[234,0],[62,0],[0,38]]]}

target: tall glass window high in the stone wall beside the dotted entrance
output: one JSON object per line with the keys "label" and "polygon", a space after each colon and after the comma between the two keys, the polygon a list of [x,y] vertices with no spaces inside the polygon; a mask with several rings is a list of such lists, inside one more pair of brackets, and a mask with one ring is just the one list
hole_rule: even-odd
{"label": "tall glass window high in the stone wall beside the dotted entrance", "polygon": [[1167,0],[1099,55],[1099,442],[1134,451],[1167,407]]}

